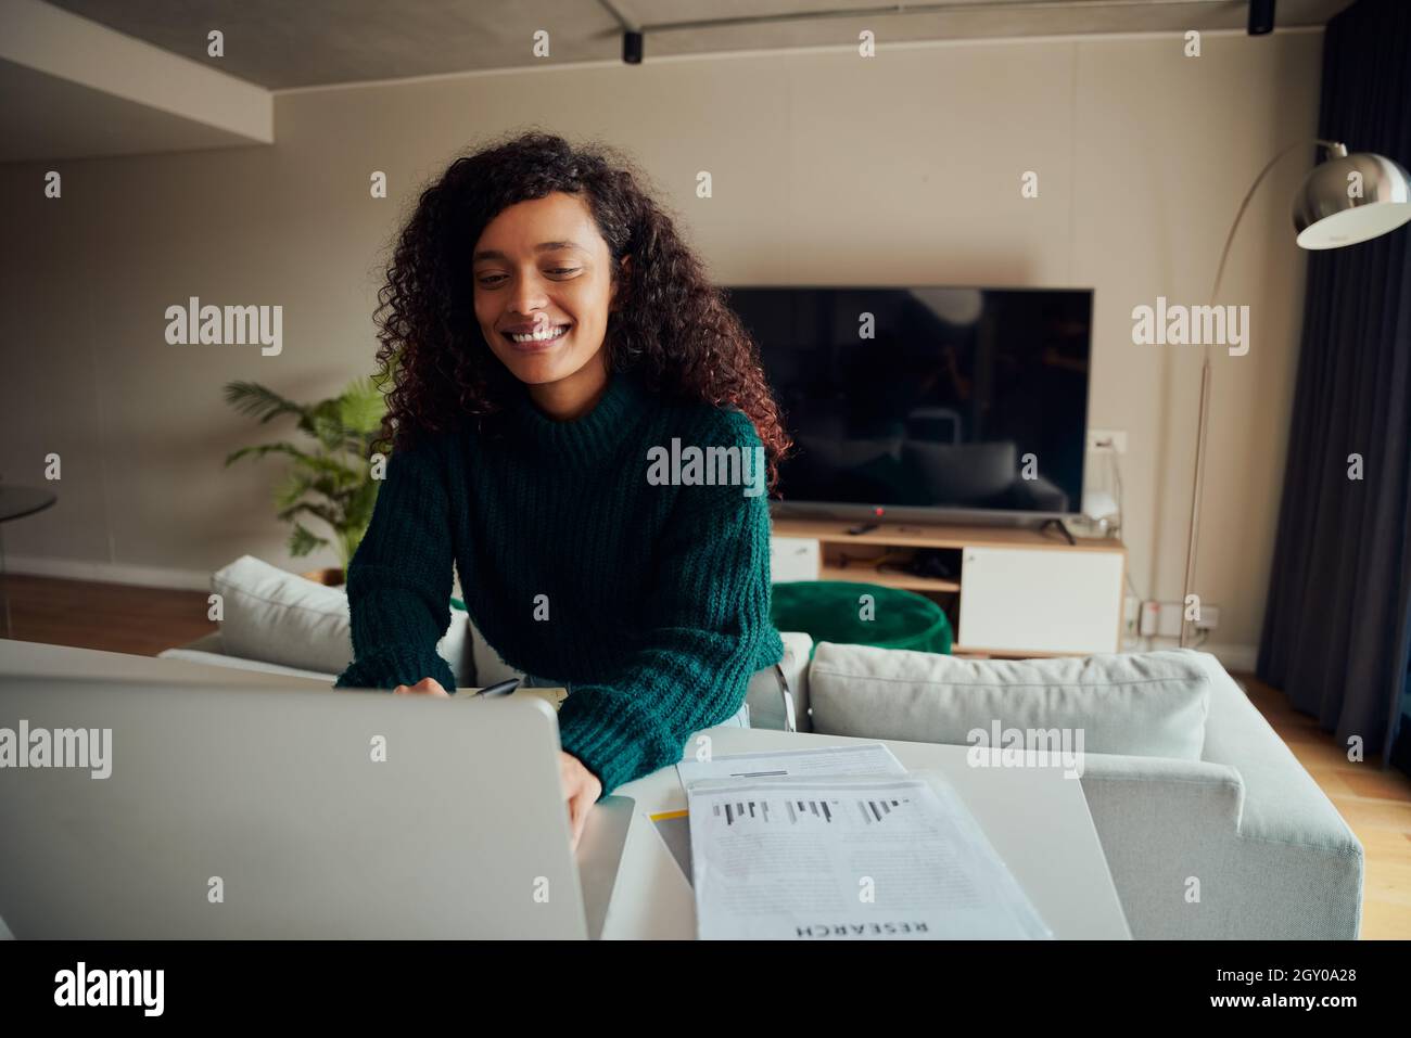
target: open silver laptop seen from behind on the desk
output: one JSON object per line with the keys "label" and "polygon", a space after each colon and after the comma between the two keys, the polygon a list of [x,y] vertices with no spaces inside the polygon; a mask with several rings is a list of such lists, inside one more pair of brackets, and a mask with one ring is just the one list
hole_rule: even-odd
{"label": "open silver laptop seen from behind on the desk", "polygon": [[632,815],[601,800],[571,852],[533,695],[0,676],[20,939],[595,939]]}

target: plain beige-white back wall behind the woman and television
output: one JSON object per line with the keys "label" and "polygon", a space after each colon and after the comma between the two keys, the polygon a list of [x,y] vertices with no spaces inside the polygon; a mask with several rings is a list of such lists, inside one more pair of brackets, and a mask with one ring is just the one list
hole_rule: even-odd
{"label": "plain beige-white back wall behind the woman and television", "polygon": [[[274,147],[0,165],[0,472],[59,503],[3,530],[10,568],[171,587],[253,553],[291,560],[274,461],[222,385],[308,399],[370,371],[384,248],[422,181],[529,124],[632,152],[721,282],[1096,289],[1092,427],[1125,429],[1125,540],[1144,597],[1181,591],[1197,347],[1132,344],[1132,307],[1205,303],[1229,221],[1274,151],[1316,130],[1321,31],[744,54],[277,94]],[[1254,199],[1222,302],[1198,590],[1216,642],[1257,643],[1302,316],[1290,157]],[[388,200],[368,173],[389,176]],[[696,173],[714,197],[694,196]],[[1040,197],[1022,199],[1023,171]],[[284,306],[284,353],[174,347],[164,310]],[[272,439],[272,437],[271,437]]]}

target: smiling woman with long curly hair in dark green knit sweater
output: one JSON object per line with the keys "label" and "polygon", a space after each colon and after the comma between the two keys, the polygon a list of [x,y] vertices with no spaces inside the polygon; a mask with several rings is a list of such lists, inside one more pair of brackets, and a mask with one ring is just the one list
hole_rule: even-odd
{"label": "smiling woman with long curly hair in dark green knit sweater", "polygon": [[686,444],[758,457],[773,491],[792,443],[758,348],[625,162],[540,133],[422,192],[380,302],[392,458],[337,684],[446,694],[459,568],[501,659],[569,687],[577,842],[595,798],[677,763],[783,656],[765,496],[649,478]]}

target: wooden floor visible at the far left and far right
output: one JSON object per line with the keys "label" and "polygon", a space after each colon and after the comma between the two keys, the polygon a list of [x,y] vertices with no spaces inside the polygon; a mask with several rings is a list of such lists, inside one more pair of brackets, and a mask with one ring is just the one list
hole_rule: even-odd
{"label": "wooden floor visible at the far left and far right", "polygon": [[[49,645],[155,656],[214,630],[206,592],[11,575],[10,637]],[[0,618],[3,622],[3,618]],[[1362,936],[1411,938],[1411,777],[1377,760],[1349,763],[1311,716],[1283,692],[1236,677],[1366,849]]]}

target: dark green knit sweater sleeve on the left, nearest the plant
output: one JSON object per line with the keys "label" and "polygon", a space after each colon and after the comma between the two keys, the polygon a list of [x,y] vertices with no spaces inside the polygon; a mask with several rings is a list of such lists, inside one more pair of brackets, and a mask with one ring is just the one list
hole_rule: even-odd
{"label": "dark green knit sweater sleeve on the left, nearest the plant", "polygon": [[432,444],[395,451],[367,533],[349,563],[353,663],[336,688],[395,688],[436,678],[456,690],[436,643],[450,626],[450,506]]}

